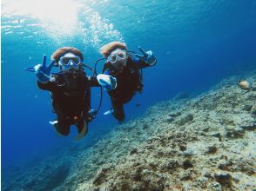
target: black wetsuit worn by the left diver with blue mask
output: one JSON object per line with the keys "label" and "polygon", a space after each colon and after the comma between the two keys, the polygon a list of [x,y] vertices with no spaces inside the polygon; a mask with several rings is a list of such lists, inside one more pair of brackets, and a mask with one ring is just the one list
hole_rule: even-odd
{"label": "black wetsuit worn by the left diver with blue mask", "polygon": [[[69,79],[70,77],[70,79]],[[91,109],[91,87],[99,86],[96,77],[86,76],[81,71],[77,78],[57,75],[55,81],[41,83],[37,81],[39,89],[51,91],[52,107],[57,115],[57,131],[62,135],[70,134],[70,126],[77,125],[80,133],[84,121],[89,122]]]}

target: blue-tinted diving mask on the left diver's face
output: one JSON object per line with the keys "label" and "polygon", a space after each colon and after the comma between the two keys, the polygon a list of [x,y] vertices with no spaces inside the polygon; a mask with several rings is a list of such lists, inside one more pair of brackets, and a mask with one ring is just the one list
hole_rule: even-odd
{"label": "blue-tinted diving mask on the left diver's face", "polygon": [[67,53],[61,56],[58,64],[62,66],[62,69],[77,69],[81,63],[81,58],[72,53]]}

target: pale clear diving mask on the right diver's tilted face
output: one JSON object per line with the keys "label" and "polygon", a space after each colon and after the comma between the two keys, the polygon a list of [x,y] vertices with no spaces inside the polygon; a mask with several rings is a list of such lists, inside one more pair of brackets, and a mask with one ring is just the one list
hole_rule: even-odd
{"label": "pale clear diving mask on the right diver's tilted face", "polygon": [[117,69],[124,67],[127,61],[125,49],[115,49],[111,52],[111,55],[107,57],[107,61]]}

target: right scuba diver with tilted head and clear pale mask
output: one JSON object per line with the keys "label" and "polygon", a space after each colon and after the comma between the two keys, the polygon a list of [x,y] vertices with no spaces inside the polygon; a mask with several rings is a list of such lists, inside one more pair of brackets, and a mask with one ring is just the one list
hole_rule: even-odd
{"label": "right scuba diver with tilted head and clear pale mask", "polygon": [[[108,91],[111,96],[111,110],[104,115],[111,114],[118,120],[125,120],[124,104],[131,101],[136,92],[141,93],[142,74],[141,69],[154,66],[157,63],[152,51],[146,51],[140,47],[138,49],[143,55],[129,54],[125,43],[112,42],[104,45],[100,52],[107,59],[104,63],[104,75],[110,75],[117,79],[117,88]],[[133,52],[134,53],[134,52]]]}

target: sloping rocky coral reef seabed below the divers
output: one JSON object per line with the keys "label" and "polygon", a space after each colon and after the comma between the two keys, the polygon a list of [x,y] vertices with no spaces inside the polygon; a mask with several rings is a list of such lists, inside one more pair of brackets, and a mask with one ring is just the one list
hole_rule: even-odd
{"label": "sloping rocky coral reef seabed below the divers", "polygon": [[[255,76],[246,75],[253,87]],[[91,148],[64,148],[3,181],[3,190],[255,190],[256,91],[239,89],[240,78],[159,102]]]}

